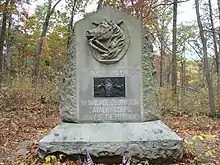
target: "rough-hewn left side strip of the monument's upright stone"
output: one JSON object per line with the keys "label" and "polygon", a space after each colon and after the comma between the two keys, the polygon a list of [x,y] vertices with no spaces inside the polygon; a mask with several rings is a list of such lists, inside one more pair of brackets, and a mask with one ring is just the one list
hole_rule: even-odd
{"label": "rough-hewn left side strip of the monument's upright stone", "polygon": [[62,121],[78,122],[75,35],[70,41],[63,74],[60,87],[60,117]]}

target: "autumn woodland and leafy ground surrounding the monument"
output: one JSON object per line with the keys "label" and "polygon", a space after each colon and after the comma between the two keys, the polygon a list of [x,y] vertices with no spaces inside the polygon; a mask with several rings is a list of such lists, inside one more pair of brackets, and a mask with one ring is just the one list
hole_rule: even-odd
{"label": "autumn woodland and leafy ground surrounding the monument", "polygon": [[[188,1],[196,20],[177,24]],[[60,78],[74,23],[103,6],[139,19],[150,34],[161,118],[184,140],[183,159],[174,164],[220,164],[220,0],[42,2],[0,1],[0,164],[50,164],[38,159],[37,146],[60,122]],[[31,13],[26,6],[33,4]],[[66,157],[65,164],[76,163]]]}

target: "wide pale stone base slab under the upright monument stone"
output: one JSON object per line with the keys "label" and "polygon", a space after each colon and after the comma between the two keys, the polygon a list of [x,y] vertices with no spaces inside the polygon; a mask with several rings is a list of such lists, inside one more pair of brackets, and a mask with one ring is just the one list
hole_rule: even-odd
{"label": "wide pale stone base slab under the upright monument stone", "polygon": [[122,157],[124,152],[153,162],[178,160],[183,154],[182,139],[162,121],[142,123],[61,123],[39,142],[39,157],[54,152],[84,154],[96,159]]}

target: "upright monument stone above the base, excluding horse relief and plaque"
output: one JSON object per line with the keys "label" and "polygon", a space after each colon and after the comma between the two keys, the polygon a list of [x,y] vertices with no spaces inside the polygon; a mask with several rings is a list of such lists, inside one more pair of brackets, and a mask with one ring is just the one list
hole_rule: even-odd
{"label": "upright monument stone above the base, excluding horse relief and plaque", "polygon": [[[129,36],[125,38],[129,40],[129,46],[123,49],[125,54],[110,65],[96,60],[99,54],[91,49],[86,38],[93,22],[105,19],[123,20],[127,29],[124,33]],[[152,45],[141,22],[126,13],[105,7],[77,22],[64,68],[60,95],[62,121],[141,122],[159,118]],[[94,97],[94,79],[102,77],[125,78],[125,97]]]}

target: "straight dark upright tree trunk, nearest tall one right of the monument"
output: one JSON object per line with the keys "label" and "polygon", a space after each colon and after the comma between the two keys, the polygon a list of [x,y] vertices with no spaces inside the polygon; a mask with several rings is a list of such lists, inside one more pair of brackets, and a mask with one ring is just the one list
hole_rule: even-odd
{"label": "straight dark upright tree trunk, nearest tall one right of the monument", "polygon": [[[176,95],[177,87],[177,60],[176,60],[176,50],[177,50],[177,39],[176,39],[176,24],[177,24],[177,0],[173,2],[173,41],[172,41],[172,87],[173,93]],[[176,97],[176,96],[174,96]]]}

